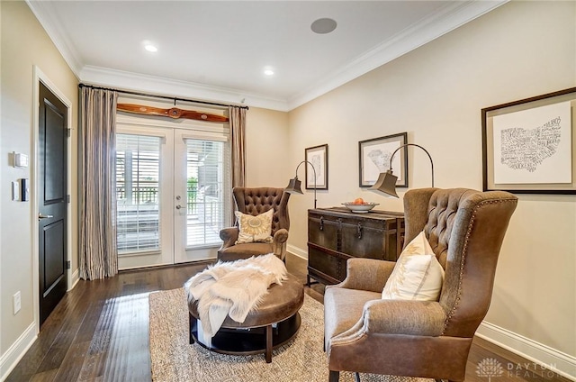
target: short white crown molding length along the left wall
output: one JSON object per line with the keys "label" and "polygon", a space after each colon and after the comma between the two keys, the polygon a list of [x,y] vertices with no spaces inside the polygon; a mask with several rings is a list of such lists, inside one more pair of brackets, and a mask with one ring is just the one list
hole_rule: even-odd
{"label": "short white crown molding length along the left wall", "polygon": [[60,52],[68,67],[79,78],[84,62],[76,55],[75,50],[70,48],[73,44],[67,38],[66,32],[59,26],[58,17],[53,14],[49,6],[41,1],[25,0],[25,2],[31,9],[32,14],[40,22],[42,28],[44,28],[44,31],[48,33],[50,40],[56,45],[56,49]]}

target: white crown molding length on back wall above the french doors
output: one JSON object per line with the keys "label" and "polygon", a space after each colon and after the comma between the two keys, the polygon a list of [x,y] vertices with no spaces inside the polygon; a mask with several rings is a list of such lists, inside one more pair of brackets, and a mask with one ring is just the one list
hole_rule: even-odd
{"label": "white crown molding length on back wall above the french doors", "polygon": [[80,80],[94,86],[109,86],[121,90],[145,92],[158,96],[180,96],[202,101],[231,105],[249,105],[288,112],[284,100],[242,92],[226,87],[206,86],[188,81],[157,77],[123,70],[86,65],[80,71]]}

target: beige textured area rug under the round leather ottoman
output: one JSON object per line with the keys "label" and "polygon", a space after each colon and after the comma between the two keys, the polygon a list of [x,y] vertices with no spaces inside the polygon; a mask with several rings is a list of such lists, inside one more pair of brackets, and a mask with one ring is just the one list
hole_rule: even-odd
{"label": "beige textured area rug under the round leather ottoman", "polygon": [[[149,296],[149,349],[155,382],[327,382],[328,365],[322,350],[324,307],[304,296],[302,325],[293,339],[272,353],[230,356],[188,343],[188,310],[184,288]],[[364,382],[429,382],[430,379],[361,374]],[[341,382],[354,381],[353,373],[340,373]]]}

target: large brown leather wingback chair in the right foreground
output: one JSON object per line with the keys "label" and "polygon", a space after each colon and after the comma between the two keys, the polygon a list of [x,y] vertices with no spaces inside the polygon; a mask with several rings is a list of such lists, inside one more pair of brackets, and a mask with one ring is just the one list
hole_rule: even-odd
{"label": "large brown leather wingback chair in the right foreground", "polygon": [[329,381],[338,381],[343,370],[463,381],[517,202],[503,191],[407,192],[404,242],[426,232],[445,268],[439,301],[383,300],[395,263],[348,259],[347,278],[328,286],[324,296]]}

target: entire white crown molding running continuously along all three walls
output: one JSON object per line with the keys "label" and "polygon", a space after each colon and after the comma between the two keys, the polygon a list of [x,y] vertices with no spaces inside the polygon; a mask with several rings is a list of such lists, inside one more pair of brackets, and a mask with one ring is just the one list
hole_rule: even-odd
{"label": "entire white crown molding running continuously along all three walls", "polygon": [[419,23],[397,33],[388,41],[350,61],[346,66],[321,77],[296,96],[289,99],[271,98],[266,95],[243,92],[238,89],[207,86],[166,77],[142,75],[109,68],[87,66],[79,59],[66,32],[59,27],[58,17],[49,6],[41,1],[25,0],[49,38],[66,60],[76,77],[86,84],[109,86],[118,89],[153,93],[166,96],[182,96],[205,101],[250,105],[266,109],[289,112],[298,106],[322,96],[365,73],[383,66],[402,55],[415,50],[429,41],[453,31],[491,10],[508,3],[509,0],[455,1],[442,10],[422,19]]}

